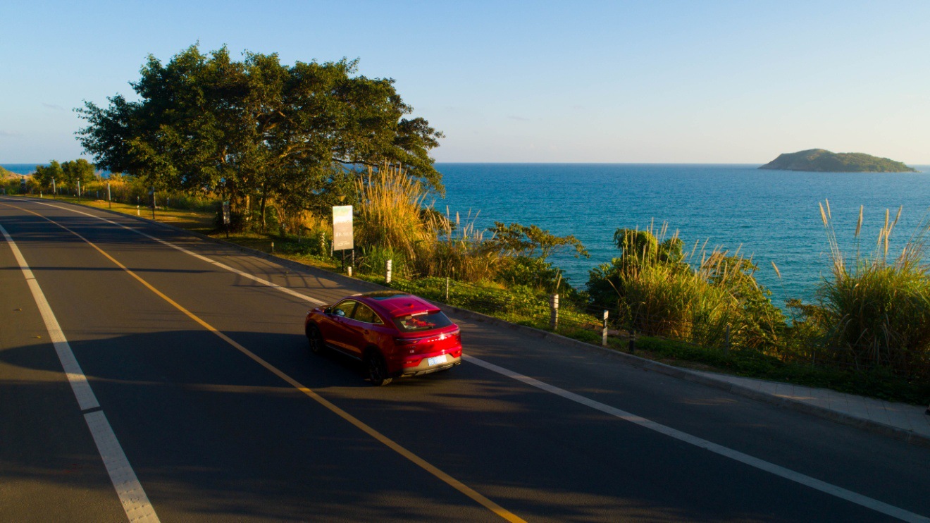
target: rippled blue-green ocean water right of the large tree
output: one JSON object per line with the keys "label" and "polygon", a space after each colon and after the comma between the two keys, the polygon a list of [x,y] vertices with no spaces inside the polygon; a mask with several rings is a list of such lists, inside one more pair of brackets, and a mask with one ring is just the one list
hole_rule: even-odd
{"label": "rippled blue-green ocean water right of the large tree", "polygon": [[[618,228],[668,224],[687,251],[706,243],[752,257],[757,280],[783,306],[785,299],[813,297],[830,272],[818,202],[830,201],[844,253],[854,255],[859,206],[865,206],[863,252],[875,248],[886,208],[894,220],[889,248],[899,253],[930,207],[930,167],[917,173],[811,173],[759,170],[758,165],[658,164],[437,164],[445,198],[435,207],[476,227],[494,221],[534,223],[555,235],[575,235],[590,259],[570,253],[551,261],[572,285],[583,287],[592,267],[618,255]],[[479,212],[480,211],[480,212]],[[697,257],[699,262],[699,256]],[[781,273],[778,278],[772,262]]]}

